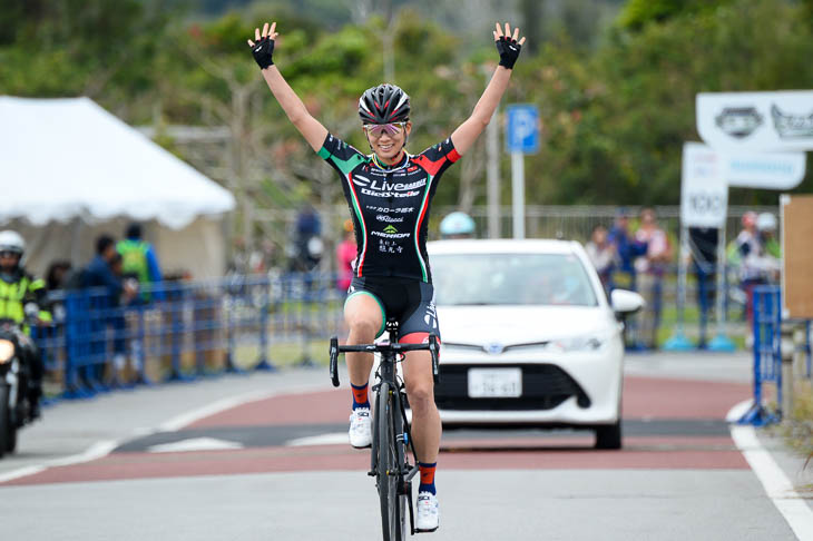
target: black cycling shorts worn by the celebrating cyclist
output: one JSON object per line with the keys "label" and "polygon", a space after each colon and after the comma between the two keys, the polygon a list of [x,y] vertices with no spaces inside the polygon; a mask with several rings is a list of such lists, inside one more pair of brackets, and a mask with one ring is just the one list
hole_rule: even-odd
{"label": "black cycling shorts worn by the celebrating cyclist", "polygon": [[399,340],[412,333],[434,333],[440,341],[432,284],[391,276],[356,276],[347,289],[347,301],[354,295],[370,295],[381,307],[378,336],[384,333],[386,318],[393,317],[398,319]]}

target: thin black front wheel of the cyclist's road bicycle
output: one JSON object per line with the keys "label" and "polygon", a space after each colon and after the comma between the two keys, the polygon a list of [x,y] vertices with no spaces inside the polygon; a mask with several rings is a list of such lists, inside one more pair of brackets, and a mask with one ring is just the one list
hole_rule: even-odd
{"label": "thin black front wheel of the cyclist's road bicycle", "polygon": [[379,500],[381,501],[381,528],[384,541],[402,541],[403,512],[401,498],[398,494],[400,465],[398,463],[398,442],[395,427],[392,422],[394,407],[394,390],[384,382],[379,390],[379,400],[375,403],[375,423],[379,431],[376,483]]}

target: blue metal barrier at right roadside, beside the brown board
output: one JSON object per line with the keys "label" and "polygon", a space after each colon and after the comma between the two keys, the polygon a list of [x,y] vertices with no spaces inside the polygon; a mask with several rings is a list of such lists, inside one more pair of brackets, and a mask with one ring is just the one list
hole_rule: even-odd
{"label": "blue metal barrier at right roadside, beside the brown board", "polygon": [[[783,382],[782,382],[782,295],[777,286],[758,286],[754,288],[754,404],[739,420],[742,424],[757,426],[782,420]],[[805,354],[805,376],[811,377],[811,322],[804,324],[805,341],[801,346]],[[787,345],[786,345],[787,346]],[[764,402],[763,384],[773,384],[776,388],[776,409],[770,411]]]}

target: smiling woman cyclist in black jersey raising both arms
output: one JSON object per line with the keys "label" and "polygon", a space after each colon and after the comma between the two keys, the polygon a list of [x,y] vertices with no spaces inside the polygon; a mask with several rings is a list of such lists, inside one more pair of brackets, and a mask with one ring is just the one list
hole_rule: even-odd
{"label": "smiling woman cyclist in black jersey raising both arms", "polygon": [[[372,154],[364,155],[331,135],[285,81],[272,58],[277,36],[276,22],[266,22],[262,32],[254,30],[248,46],[288,120],[339,173],[353,219],[357,257],[344,304],[350,327],[347,344],[371,343],[383,332],[388,316],[398,318],[402,343],[422,343],[429,333],[440,337],[425,247],[430,201],[440,176],[471,148],[491,119],[508,88],[525,38],[519,39],[519,29],[511,32],[508,23],[505,30],[496,24],[493,37],[500,62],[471,116],[451,137],[418,155],[405,150],[412,131],[406,92],[390,83],[365,90],[359,99],[359,116]],[[346,358],[353,392],[350,443],[365,447],[372,432],[368,381],[373,356],[347,353]],[[434,470],[441,422],[431,364],[429,352],[410,352],[403,362],[421,474],[415,523],[420,531],[438,529]]]}

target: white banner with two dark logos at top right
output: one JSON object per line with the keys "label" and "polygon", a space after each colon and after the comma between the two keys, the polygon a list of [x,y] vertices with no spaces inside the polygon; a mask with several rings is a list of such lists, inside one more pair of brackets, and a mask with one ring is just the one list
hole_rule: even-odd
{"label": "white banner with two dark logos at top right", "polygon": [[698,94],[696,112],[715,150],[813,150],[813,90]]}

